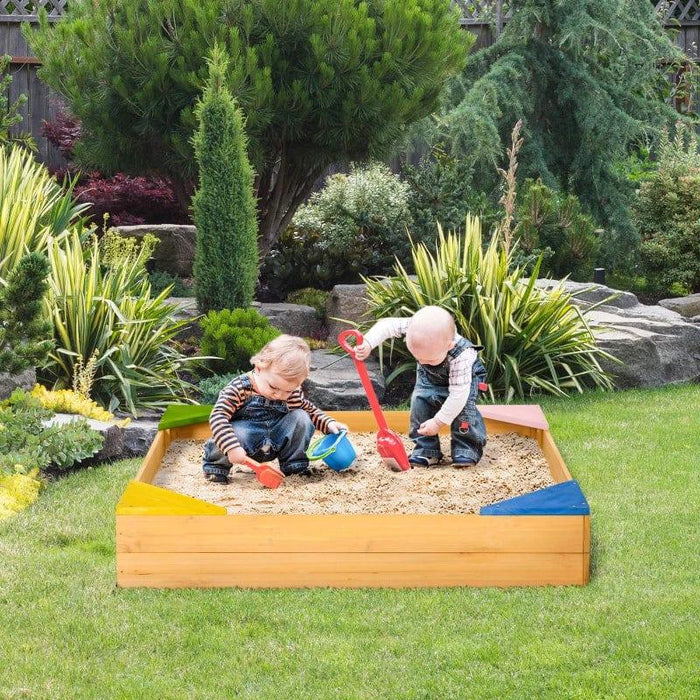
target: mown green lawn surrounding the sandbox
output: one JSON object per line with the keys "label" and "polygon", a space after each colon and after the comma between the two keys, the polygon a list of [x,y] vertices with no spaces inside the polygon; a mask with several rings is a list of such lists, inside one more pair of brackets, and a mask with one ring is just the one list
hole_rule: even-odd
{"label": "mown green lawn surrounding the sandbox", "polygon": [[0,698],[700,696],[700,386],[543,406],[590,585],[119,590],[120,462],[0,524]]}

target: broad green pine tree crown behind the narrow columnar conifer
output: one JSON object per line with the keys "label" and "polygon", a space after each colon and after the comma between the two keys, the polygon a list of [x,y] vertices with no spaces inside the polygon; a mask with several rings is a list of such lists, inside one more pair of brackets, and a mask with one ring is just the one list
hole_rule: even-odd
{"label": "broad green pine tree crown behind the narrow columnar conifer", "polygon": [[474,36],[450,0],[101,0],[26,27],[40,76],[82,120],[104,172],[194,180],[194,105],[218,43],[258,173],[260,250],[332,163],[385,157],[435,107]]}

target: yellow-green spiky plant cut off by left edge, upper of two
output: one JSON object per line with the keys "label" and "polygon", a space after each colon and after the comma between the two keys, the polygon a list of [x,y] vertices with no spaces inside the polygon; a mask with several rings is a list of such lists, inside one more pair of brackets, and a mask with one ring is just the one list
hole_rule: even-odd
{"label": "yellow-green spiky plant cut off by left edge, upper of two", "polygon": [[0,148],[0,278],[27,253],[46,253],[89,205],[72,198],[74,182],[61,186],[23,148]]}

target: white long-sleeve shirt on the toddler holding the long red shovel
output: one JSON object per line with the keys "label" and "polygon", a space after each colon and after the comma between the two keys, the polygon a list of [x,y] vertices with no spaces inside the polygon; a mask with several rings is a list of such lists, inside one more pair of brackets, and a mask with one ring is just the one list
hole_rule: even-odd
{"label": "white long-sleeve shirt on the toddler holding the long red shovel", "polygon": [[[410,320],[410,318],[383,318],[365,333],[365,340],[372,348],[376,348],[389,338],[401,338],[406,335]],[[455,333],[455,342],[461,338],[459,333]],[[450,364],[448,395],[445,403],[434,416],[440,423],[450,425],[467,403],[472,386],[472,366],[476,358],[477,353],[474,348],[467,348],[455,358],[450,358],[448,355]]]}

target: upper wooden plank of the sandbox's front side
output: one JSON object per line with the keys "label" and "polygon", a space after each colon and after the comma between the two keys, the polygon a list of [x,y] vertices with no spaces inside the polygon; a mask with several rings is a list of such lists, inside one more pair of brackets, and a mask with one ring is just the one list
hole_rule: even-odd
{"label": "upper wooden plank of the sandbox's front side", "polygon": [[192,515],[117,518],[119,552],[582,551],[582,516]]}

